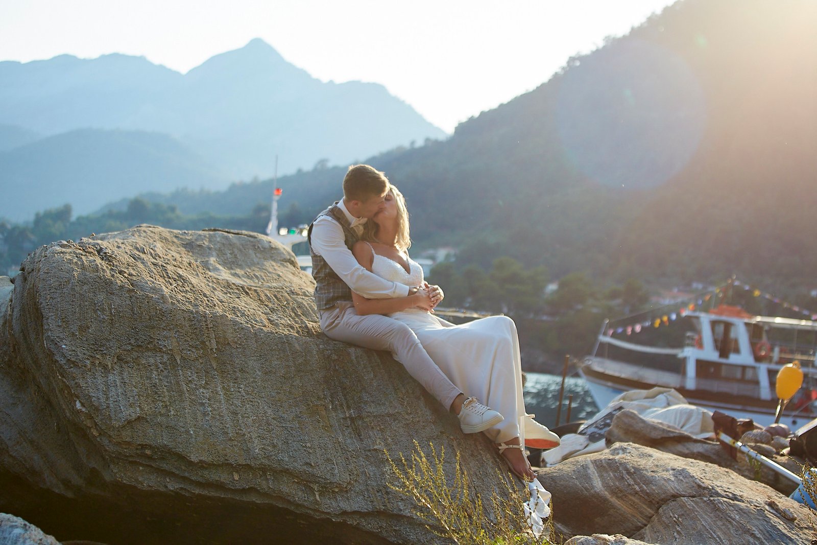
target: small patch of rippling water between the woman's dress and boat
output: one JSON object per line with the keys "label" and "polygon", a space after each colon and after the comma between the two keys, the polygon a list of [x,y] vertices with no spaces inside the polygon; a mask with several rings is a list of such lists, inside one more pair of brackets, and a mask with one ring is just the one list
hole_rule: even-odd
{"label": "small patch of rippling water between the woman's dress and boat", "polygon": [[[559,388],[561,377],[546,373],[525,373],[525,409],[536,415],[536,421],[547,427],[556,427],[556,409],[559,405]],[[560,424],[567,422],[567,405],[569,396],[573,395],[573,408],[570,420],[586,420],[598,412],[582,377],[574,376],[565,379],[565,396],[562,401]]]}

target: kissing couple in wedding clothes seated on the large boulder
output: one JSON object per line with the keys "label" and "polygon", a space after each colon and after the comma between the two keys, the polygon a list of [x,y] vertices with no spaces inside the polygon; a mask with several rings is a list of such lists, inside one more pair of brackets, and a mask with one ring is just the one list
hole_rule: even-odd
{"label": "kissing couple in wedding clothes seated on the large boulder", "polygon": [[327,337],[390,351],[463,433],[483,432],[520,479],[536,478],[525,445],[548,449],[559,436],[525,412],[516,324],[491,316],[454,325],[433,314],[444,294],[408,257],[403,194],[383,172],[354,165],[343,199],[309,227],[320,327]]}

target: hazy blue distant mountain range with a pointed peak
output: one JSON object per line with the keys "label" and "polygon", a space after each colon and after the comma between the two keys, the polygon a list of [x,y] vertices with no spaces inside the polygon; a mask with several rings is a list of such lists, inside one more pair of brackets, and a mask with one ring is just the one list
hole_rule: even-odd
{"label": "hazy blue distant mountain range with a pointed peak", "polygon": [[[15,221],[66,202],[80,213],[95,209],[79,193],[118,199],[157,187],[221,189],[271,176],[276,164],[295,172],[446,136],[382,85],[321,82],[258,38],[187,74],[143,57],[62,55],[0,62],[0,83],[0,189],[41,197],[38,208],[3,199],[0,217]],[[38,136],[60,139],[23,149]],[[106,140],[76,158],[56,147],[91,150]],[[135,150],[136,141],[145,150]],[[124,156],[130,172],[109,168],[106,157]],[[69,183],[79,177],[80,185]]]}

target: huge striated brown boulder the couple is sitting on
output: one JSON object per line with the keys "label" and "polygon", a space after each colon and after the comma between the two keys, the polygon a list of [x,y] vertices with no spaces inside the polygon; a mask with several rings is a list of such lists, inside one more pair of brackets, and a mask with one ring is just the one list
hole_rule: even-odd
{"label": "huge striated brown boulder the couple is sitting on", "polygon": [[63,540],[434,542],[384,449],[504,465],[391,356],[324,337],[313,287],[252,233],[38,248],[0,297],[0,510]]}

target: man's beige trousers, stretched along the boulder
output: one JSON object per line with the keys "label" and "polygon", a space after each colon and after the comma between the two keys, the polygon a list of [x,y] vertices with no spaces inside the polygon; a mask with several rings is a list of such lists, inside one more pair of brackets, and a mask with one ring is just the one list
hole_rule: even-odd
{"label": "man's beige trousers, stretched along the boulder", "polygon": [[447,410],[462,393],[440,371],[408,325],[383,315],[359,316],[351,302],[320,310],[320,328],[330,339],[390,351],[414,379]]}

